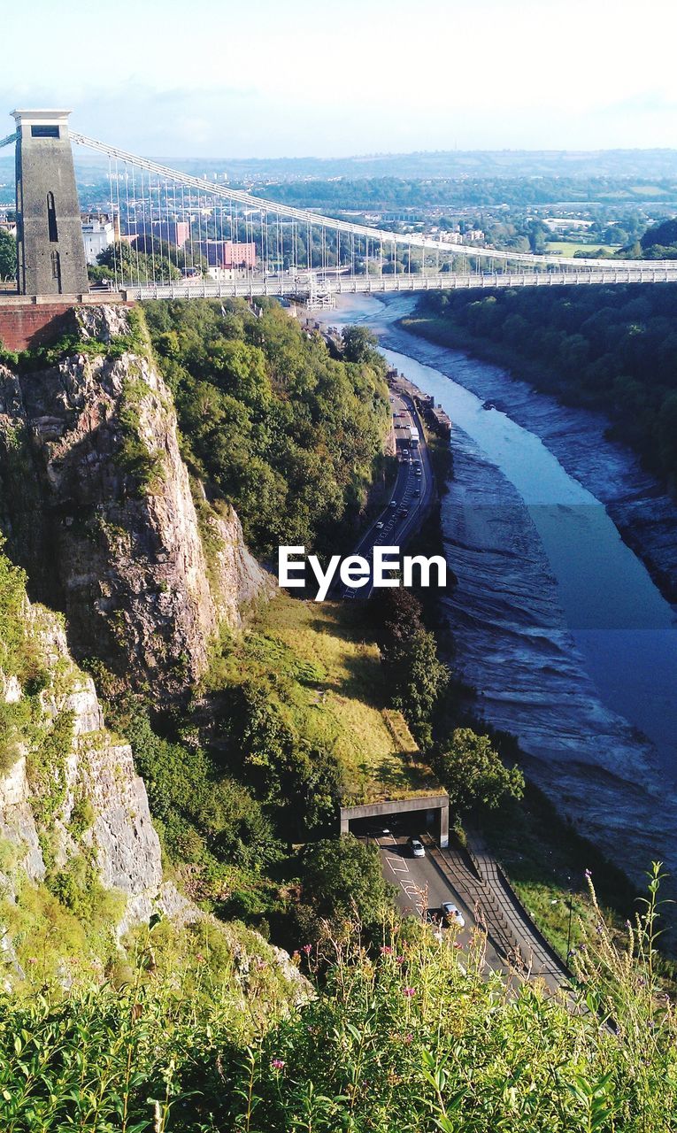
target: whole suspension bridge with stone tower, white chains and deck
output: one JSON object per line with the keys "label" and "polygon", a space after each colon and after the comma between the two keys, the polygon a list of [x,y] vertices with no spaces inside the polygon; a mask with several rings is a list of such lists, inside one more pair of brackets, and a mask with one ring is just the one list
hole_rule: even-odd
{"label": "whole suspension bridge with stone tower, white chains and deck", "polygon": [[72,145],[108,164],[97,204],[106,271],[94,274],[126,299],[276,296],[322,305],[355,292],[677,281],[676,261],[451,245],[325,216],[86,137],[69,129],[68,111],[14,117],[0,147],[16,145],[17,289],[37,300],[91,289]]}

